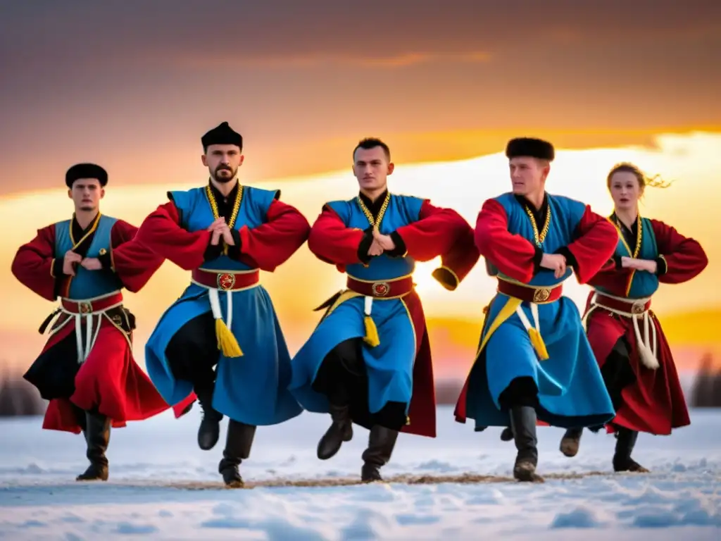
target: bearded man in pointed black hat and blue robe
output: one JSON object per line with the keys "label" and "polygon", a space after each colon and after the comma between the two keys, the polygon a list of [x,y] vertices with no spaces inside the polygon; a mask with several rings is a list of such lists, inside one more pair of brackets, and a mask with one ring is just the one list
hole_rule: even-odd
{"label": "bearded man in pointed black hat and blue robe", "polygon": [[[241,487],[239,465],[258,425],[299,415],[288,392],[291,357],[260,271],[273,272],[301,247],[310,225],[279,190],[242,185],[243,138],[227,122],[201,138],[203,188],[168,193],[143,221],[142,242],[191,271],[190,285],[162,315],[146,344],[146,365],[170,404],[198,397],[200,449],[212,449],[229,417],[218,472]],[[193,395],[193,392],[195,395]]]}

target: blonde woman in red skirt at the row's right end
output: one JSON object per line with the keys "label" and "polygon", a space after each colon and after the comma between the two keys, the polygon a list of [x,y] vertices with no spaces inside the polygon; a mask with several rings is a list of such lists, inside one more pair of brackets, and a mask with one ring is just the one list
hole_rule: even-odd
{"label": "blonde woman in red skirt at the row's right end", "polygon": [[[588,283],[588,340],[601,366],[616,417],[606,425],[616,436],[616,472],[647,472],[631,458],[639,432],[671,434],[691,423],[676,365],[660,322],[650,309],[659,283],[682,283],[701,273],[708,260],[694,239],[663,221],[643,218],[638,202],[647,187],[668,187],[634,164],[616,165],[606,179],[618,229],[611,265]],[[598,432],[603,426],[590,427]],[[561,452],[578,453],[582,428],[566,431]]]}

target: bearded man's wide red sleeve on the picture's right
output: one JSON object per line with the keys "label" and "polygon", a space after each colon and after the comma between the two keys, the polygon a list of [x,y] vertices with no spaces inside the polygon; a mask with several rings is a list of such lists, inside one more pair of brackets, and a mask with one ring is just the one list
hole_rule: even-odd
{"label": "bearded man's wide red sleeve on the picture's right", "polygon": [[228,255],[254,268],[273,272],[306,242],[311,226],[298,209],[278,199],[270,203],[266,219],[265,224],[252,229],[247,226],[238,229],[235,250],[229,247]]}

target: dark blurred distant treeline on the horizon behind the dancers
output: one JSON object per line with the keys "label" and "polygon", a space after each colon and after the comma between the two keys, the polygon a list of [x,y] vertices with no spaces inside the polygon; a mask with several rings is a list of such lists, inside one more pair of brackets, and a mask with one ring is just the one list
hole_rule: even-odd
{"label": "dark blurred distant treeline on the horizon behind the dancers", "polygon": [[[712,366],[711,357],[704,357],[691,391],[686,395],[691,408],[721,408],[721,369],[713,369]],[[461,387],[461,379],[437,381],[436,401],[442,405],[455,405]],[[46,405],[35,387],[25,379],[7,372],[0,374],[0,417],[43,415]]]}

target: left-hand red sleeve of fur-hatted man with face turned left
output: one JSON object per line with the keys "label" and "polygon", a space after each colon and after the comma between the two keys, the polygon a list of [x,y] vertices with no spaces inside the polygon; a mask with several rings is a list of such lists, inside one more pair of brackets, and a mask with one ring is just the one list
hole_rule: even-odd
{"label": "left-hand red sleeve of fur-hatted man with face turned left", "polygon": [[508,231],[503,206],[488,199],[476,220],[475,244],[491,265],[506,276],[528,283],[539,268],[543,252],[528,239]]}

